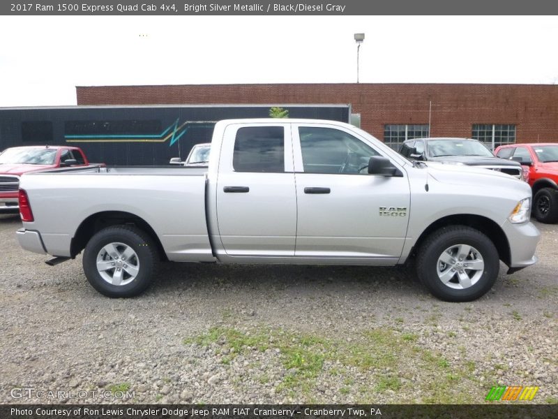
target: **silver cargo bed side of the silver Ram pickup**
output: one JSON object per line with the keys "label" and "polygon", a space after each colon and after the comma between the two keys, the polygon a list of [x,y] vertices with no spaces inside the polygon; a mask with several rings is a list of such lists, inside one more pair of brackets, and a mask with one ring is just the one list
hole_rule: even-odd
{"label": "silver cargo bed side of the silver Ram pickup", "polygon": [[72,238],[96,214],[126,213],[153,228],[169,260],[205,261],[213,260],[205,173],[206,168],[166,166],[64,168],[24,175],[20,186],[35,219],[49,220],[40,226],[49,254],[73,256]]}

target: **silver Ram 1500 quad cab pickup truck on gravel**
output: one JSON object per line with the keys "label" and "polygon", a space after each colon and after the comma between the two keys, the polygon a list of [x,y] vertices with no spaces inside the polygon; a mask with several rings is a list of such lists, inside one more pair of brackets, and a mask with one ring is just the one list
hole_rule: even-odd
{"label": "silver Ram 1500 quad cab pickup truck on gravel", "polygon": [[[24,175],[21,246],[83,253],[91,285],[142,293],[162,260],[402,265],[442,300],[469,301],[536,262],[529,185],[412,162],[349,124],[218,122],[209,167],[75,168]],[[373,277],[374,271],[370,271]]]}

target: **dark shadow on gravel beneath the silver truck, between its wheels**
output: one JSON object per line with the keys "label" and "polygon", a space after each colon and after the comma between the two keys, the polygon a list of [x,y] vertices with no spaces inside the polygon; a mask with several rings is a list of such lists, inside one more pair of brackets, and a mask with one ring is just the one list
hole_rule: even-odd
{"label": "dark shadow on gravel beneath the silver truck, between its wheels", "polygon": [[261,294],[265,298],[270,291],[296,297],[319,297],[328,293],[391,297],[427,295],[421,288],[414,272],[405,267],[165,263],[151,289],[156,293],[172,293],[178,289],[255,298]]}

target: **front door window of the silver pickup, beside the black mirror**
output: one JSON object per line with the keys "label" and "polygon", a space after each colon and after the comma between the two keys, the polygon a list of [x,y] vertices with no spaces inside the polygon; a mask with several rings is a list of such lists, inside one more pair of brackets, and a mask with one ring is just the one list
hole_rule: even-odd
{"label": "front door window of the silver pickup, beside the black mirror", "polygon": [[301,126],[305,173],[359,173],[378,153],[359,138],[333,128]]}

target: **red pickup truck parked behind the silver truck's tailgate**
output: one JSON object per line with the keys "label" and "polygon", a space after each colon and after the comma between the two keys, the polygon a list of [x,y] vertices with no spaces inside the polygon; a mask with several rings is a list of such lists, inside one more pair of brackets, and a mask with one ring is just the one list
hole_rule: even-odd
{"label": "red pickup truck parked behind the silver truck's tailgate", "polygon": [[78,147],[32,145],[5,149],[0,153],[0,214],[19,211],[21,175],[64,166],[89,166],[89,161]]}

